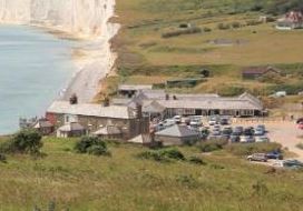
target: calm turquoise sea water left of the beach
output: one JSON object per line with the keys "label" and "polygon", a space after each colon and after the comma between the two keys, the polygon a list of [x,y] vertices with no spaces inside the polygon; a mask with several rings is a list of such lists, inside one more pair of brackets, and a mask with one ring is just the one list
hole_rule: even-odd
{"label": "calm turquoise sea water left of the beach", "polygon": [[0,134],[18,130],[19,118],[41,117],[75,67],[74,43],[29,27],[0,27]]}

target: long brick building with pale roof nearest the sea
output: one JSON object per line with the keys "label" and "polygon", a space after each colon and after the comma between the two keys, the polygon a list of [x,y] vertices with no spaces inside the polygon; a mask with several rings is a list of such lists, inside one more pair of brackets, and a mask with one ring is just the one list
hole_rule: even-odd
{"label": "long brick building with pale roof nearest the sea", "polygon": [[149,131],[149,119],[141,113],[141,107],[101,105],[94,103],[72,104],[69,101],[55,101],[48,108],[46,118],[58,129],[68,123],[81,124],[88,133],[100,128],[115,125],[124,140]]}

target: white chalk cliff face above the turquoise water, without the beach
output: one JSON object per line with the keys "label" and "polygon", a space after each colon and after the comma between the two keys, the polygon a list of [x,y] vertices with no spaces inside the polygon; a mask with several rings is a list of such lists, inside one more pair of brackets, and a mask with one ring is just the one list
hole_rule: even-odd
{"label": "white chalk cliff face above the turquoise water, without the beach", "polygon": [[114,7],[114,0],[0,0],[0,21],[101,34]]}

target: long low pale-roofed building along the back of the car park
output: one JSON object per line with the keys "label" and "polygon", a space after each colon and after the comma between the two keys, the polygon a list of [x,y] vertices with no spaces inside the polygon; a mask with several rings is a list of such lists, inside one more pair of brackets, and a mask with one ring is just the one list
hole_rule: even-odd
{"label": "long low pale-roofed building along the back of the car park", "polygon": [[165,93],[164,90],[141,90],[133,99],[114,99],[113,103],[134,108],[141,104],[143,113],[150,120],[167,119],[174,115],[263,115],[263,103],[250,93],[235,98],[217,94]]}

